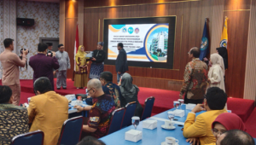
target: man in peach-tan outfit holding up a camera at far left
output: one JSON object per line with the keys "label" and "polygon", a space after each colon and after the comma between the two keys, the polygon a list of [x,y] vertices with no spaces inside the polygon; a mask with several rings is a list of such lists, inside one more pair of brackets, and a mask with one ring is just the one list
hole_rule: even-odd
{"label": "man in peach-tan outfit holding up a camera at far left", "polygon": [[2,84],[8,85],[13,91],[16,106],[20,104],[20,71],[19,67],[25,67],[27,50],[23,51],[22,60],[13,53],[14,39],[6,38],[3,40],[4,51],[0,54],[0,61],[3,66]]}

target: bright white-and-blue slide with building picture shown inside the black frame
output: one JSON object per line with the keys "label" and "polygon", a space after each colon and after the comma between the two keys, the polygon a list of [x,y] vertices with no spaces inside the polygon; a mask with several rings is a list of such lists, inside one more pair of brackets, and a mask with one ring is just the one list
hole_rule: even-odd
{"label": "bright white-and-blue slide with building picture shown inside the black frame", "polygon": [[108,60],[123,43],[128,61],[167,62],[169,23],[108,25]]}

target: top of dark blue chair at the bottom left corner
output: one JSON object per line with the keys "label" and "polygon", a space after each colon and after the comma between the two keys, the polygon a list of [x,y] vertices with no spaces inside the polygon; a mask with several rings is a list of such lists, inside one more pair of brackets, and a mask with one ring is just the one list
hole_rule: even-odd
{"label": "top of dark blue chair at the bottom left corner", "polygon": [[32,131],[18,136],[14,136],[11,145],[43,145],[44,144],[44,132]]}

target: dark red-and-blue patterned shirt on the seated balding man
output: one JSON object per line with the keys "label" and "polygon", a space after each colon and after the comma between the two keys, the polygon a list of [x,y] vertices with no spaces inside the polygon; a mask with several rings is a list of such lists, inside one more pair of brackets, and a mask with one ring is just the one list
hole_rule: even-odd
{"label": "dark red-and-blue patterned shirt on the seated balding man", "polygon": [[113,98],[108,95],[93,98],[93,106],[89,112],[88,125],[97,129],[92,136],[100,138],[108,133],[109,121],[115,109]]}

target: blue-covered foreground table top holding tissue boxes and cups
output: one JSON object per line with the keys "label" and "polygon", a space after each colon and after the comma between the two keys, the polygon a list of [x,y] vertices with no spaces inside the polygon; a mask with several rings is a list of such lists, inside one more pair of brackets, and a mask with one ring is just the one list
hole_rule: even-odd
{"label": "blue-covered foreground table top holding tissue boxes and cups", "polygon": [[[168,111],[174,111],[175,108],[172,108],[170,110],[167,110],[163,113],[159,113],[157,115],[154,115],[148,119],[154,119],[157,120],[157,128],[154,130],[148,130],[143,128],[143,121],[140,122],[140,124],[137,126],[137,131],[143,131],[143,139],[138,142],[130,142],[125,140],[125,132],[130,131],[131,129],[135,129],[133,125],[127,126],[119,131],[113,132],[112,134],[108,136],[104,136],[100,138],[103,142],[105,142],[107,145],[160,145],[161,142],[166,141],[166,136],[172,136],[176,138],[179,142],[178,145],[186,145],[189,144],[189,142],[186,142],[186,138],[183,136],[183,131],[181,129],[183,128],[184,122],[187,119],[187,115],[191,110],[186,110],[183,106],[183,110],[185,111],[185,115],[180,117],[175,117],[174,119],[177,119],[177,121],[174,121],[175,123],[175,130],[165,130],[161,128],[161,125],[165,125],[165,121],[169,120],[167,112]],[[204,111],[203,111],[204,112]],[[201,113],[203,113],[201,112]],[[196,113],[198,115],[200,113]],[[147,119],[145,119],[147,120]],[[182,126],[179,126],[182,125]]]}

